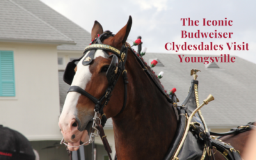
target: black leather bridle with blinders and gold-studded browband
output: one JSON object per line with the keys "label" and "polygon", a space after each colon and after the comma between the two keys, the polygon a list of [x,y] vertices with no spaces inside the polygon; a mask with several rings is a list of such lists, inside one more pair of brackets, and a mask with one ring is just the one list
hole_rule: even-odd
{"label": "black leather bridle with blinders and gold-studded browband", "polygon": [[[124,111],[124,108],[125,108],[126,102],[127,102],[127,83],[128,83],[128,81],[127,81],[127,70],[125,70],[125,62],[127,60],[127,51],[128,51],[129,46],[124,44],[124,45],[122,45],[122,48],[119,51],[118,49],[115,49],[115,47],[111,47],[110,45],[102,44],[102,41],[104,39],[108,38],[109,36],[115,36],[115,35],[113,35],[110,31],[105,31],[98,38],[95,38],[95,40],[93,40],[93,42],[95,42],[95,44],[88,45],[84,49],[83,56],[86,54],[86,52],[88,52],[88,51],[90,51],[90,52],[88,52],[88,54],[84,57],[84,60],[82,62],[83,65],[89,65],[92,62],[92,60],[94,58],[94,54],[97,51],[97,49],[113,52],[113,54],[111,54],[110,56],[106,52],[104,52],[104,54],[106,56],[108,56],[108,58],[112,57],[111,64],[109,65],[108,71],[106,72],[109,85],[108,85],[108,88],[106,89],[106,91],[104,92],[104,94],[100,97],[100,99],[97,99],[96,97],[94,97],[90,93],[86,92],[83,88],[80,88],[79,86],[70,86],[70,88],[68,89],[68,92],[78,92],[78,93],[81,93],[82,95],[88,97],[88,99],[92,100],[92,102],[95,104],[95,111],[99,112],[100,115],[104,115],[103,108],[104,108],[104,106],[108,105],[109,99],[111,97],[111,93],[112,93],[113,89],[115,88],[115,85],[116,85],[119,77],[122,75],[123,79],[124,79],[124,104],[122,106],[121,111],[117,114],[117,115],[119,115],[120,113],[122,113],[122,111]],[[67,68],[64,73],[64,76],[63,76],[63,80],[66,83],[68,83],[68,84],[72,83],[72,79],[74,78],[74,74],[75,74],[75,72],[74,72],[74,68],[76,67],[75,62],[80,61],[83,58],[83,56],[77,60],[73,60],[70,63],[68,63]],[[119,61],[118,61],[118,58],[119,58]],[[104,126],[104,122],[102,122],[102,126]]]}

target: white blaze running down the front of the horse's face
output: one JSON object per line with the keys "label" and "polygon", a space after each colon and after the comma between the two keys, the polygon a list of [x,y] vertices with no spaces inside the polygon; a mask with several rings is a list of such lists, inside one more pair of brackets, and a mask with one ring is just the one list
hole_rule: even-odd
{"label": "white blaze running down the front of the horse's face", "polygon": [[[83,89],[85,89],[86,84],[91,80],[92,77],[92,73],[90,72],[89,66],[90,65],[83,65],[82,62],[84,60],[84,57],[87,56],[87,54],[90,51],[88,51],[83,58],[77,63],[77,70],[76,70],[76,74],[74,76],[74,79],[72,81],[71,86],[79,86]],[[104,52],[100,49],[98,49],[95,52],[94,58],[93,60],[95,60],[95,58],[102,56],[103,58],[107,58],[104,54]],[[76,118],[77,115],[77,101],[80,97],[80,93],[77,92],[68,92],[67,97],[65,99],[65,103],[63,106],[63,110],[61,112],[60,115],[60,123],[61,126],[63,127],[63,131],[66,131],[68,128],[68,124],[70,123],[70,120],[72,120],[72,118]]]}

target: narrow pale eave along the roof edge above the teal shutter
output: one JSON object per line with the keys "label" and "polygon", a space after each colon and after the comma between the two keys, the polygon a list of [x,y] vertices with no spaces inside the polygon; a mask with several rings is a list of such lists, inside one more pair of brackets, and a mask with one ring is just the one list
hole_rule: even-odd
{"label": "narrow pale eave along the roof edge above the teal shutter", "polygon": [[17,42],[17,43],[31,43],[31,44],[70,44],[76,45],[74,41],[67,40],[32,40],[32,39],[17,39],[17,38],[0,38],[0,42]]}

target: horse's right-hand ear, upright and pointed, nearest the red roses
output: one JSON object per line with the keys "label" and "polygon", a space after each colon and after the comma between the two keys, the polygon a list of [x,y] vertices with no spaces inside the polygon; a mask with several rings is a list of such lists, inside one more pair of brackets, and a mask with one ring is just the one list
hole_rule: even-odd
{"label": "horse's right-hand ear, upright and pointed, nearest the red roses", "polygon": [[132,28],[132,17],[130,15],[129,20],[127,24],[124,26],[124,28],[120,29],[120,31],[118,31],[118,33],[116,33],[116,35],[114,36],[115,43],[120,44],[121,42],[122,44],[124,44],[127,40],[127,37],[129,36],[131,28]]}

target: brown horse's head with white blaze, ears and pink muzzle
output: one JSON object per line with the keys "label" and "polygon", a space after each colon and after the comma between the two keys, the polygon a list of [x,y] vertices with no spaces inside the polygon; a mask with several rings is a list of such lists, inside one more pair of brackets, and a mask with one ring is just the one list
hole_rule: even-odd
{"label": "brown horse's head with white blaze, ears and pink muzzle", "polygon": [[[127,40],[131,25],[132,19],[130,16],[124,28],[120,29],[115,36],[105,38],[102,43],[120,50]],[[92,28],[92,40],[95,40],[102,33],[102,26],[99,22],[95,21]],[[106,54],[103,50],[97,49],[92,62],[89,65],[83,65],[84,58],[89,52],[85,52],[83,58],[77,63],[75,68],[76,74],[74,75],[71,86],[79,86],[93,97],[100,99],[109,85],[106,72],[113,59],[109,56],[113,53],[107,51]],[[116,116],[122,109],[124,102],[123,81],[119,80],[116,83],[111,99],[115,100],[110,100],[108,105],[104,107],[104,113],[106,113],[107,118]],[[81,93],[68,92],[59,120],[61,133],[65,141],[68,142],[68,145],[78,146],[81,142],[88,141],[90,132],[92,132],[94,109],[95,103],[88,99],[88,97],[81,95]],[[78,148],[68,147],[71,151],[77,150]]]}

